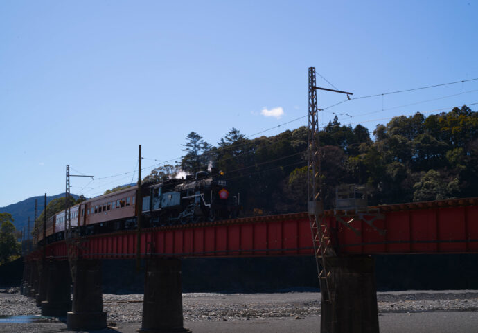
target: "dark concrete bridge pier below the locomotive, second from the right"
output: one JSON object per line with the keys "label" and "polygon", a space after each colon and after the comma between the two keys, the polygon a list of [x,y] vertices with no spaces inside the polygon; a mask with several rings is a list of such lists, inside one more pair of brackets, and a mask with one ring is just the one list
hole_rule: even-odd
{"label": "dark concrete bridge pier below the locomotive, second from the right", "polygon": [[148,260],[144,283],[143,321],[139,332],[191,332],[183,325],[181,260]]}

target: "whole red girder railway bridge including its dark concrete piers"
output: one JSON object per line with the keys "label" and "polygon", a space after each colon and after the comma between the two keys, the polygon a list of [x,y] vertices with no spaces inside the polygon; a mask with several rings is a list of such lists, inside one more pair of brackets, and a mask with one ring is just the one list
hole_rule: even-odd
{"label": "whole red girder railway bridge including its dark concrete piers", "polygon": [[[323,333],[378,333],[375,262],[369,254],[478,253],[478,198],[369,211],[379,211],[375,217],[380,218],[359,219],[353,211],[324,212],[337,256],[327,260],[330,300],[321,303]],[[69,329],[104,328],[101,260],[137,258],[137,239],[137,231],[121,231],[81,238],[68,248],[65,242],[39,248],[25,258],[23,293],[37,299],[43,315],[67,315]],[[141,230],[139,240],[140,257],[146,261],[144,332],[191,332],[183,327],[177,258],[315,254],[308,213],[148,228]],[[74,265],[67,249],[76,251]],[[73,312],[69,312],[71,279]]]}

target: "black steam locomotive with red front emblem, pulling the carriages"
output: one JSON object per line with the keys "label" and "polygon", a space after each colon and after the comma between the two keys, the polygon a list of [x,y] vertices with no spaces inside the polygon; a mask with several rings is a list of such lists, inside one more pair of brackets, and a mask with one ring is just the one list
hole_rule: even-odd
{"label": "black steam locomotive with red front emblem, pulling the carriages", "polygon": [[155,183],[143,192],[143,218],[150,226],[233,218],[238,208],[239,195],[230,195],[223,173],[214,169]]}

